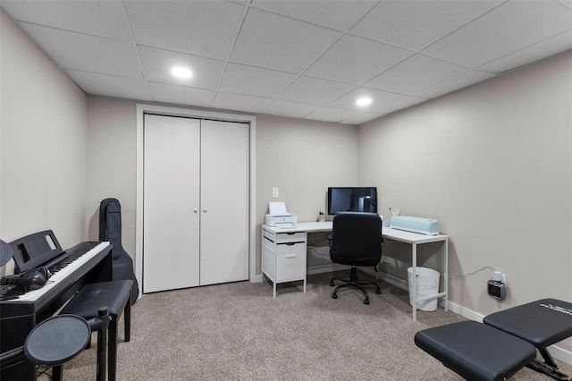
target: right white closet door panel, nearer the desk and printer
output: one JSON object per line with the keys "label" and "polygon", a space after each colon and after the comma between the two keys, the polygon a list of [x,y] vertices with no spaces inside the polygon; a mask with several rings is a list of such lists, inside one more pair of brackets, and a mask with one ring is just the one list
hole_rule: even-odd
{"label": "right white closet door panel, nearer the desk and printer", "polygon": [[200,284],[248,279],[248,124],[201,124]]}

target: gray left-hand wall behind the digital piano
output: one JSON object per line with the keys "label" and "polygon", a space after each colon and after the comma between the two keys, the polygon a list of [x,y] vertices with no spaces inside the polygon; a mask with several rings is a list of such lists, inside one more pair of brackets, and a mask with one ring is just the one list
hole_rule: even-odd
{"label": "gray left-hand wall behind the digital piano", "polygon": [[68,248],[87,236],[87,97],[4,11],[0,27],[0,238]]}

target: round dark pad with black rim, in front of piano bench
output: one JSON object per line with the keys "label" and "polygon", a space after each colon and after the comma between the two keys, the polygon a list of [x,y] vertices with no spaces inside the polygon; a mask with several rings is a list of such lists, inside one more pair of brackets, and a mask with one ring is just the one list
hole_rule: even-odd
{"label": "round dark pad with black rim, in front of piano bench", "polygon": [[24,352],[36,365],[60,365],[76,357],[88,345],[90,337],[85,319],[60,315],[32,329],[24,343]]}

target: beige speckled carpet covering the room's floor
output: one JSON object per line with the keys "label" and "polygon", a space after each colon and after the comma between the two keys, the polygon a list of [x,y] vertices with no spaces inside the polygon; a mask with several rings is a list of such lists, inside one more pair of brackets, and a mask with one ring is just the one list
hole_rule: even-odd
{"label": "beige speckled carpet covering the room's floor", "polygon": [[[346,275],[336,273],[335,275]],[[373,280],[359,273],[362,280]],[[340,292],[332,274],[272,285],[217,284],[144,295],[133,306],[130,343],[119,343],[119,380],[460,380],[413,342],[417,331],[462,320],[439,308],[411,319],[408,294]],[[64,380],[94,380],[92,348],[65,364]],[[467,343],[470,345],[470,343]],[[572,374],[572,367],[561,370]],[[46,376],[40,377],[48,379]],[[511,380],[550,380],[529,368]]]}

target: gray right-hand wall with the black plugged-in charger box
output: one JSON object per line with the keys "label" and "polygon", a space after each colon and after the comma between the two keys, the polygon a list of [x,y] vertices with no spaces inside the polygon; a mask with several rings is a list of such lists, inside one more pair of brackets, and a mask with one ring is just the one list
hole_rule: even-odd
{"label": "gray right-hand wall with the black plugged-in charger box", "polygon": [[[571,68],[568,52],[360,127],[358,181],[386,214],[440,220],[466,309],[572,300]],[[394,249],[384,269],[405,276]],[[488,267],[507,275],[506,301],[487,295]]]}

